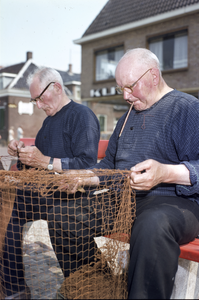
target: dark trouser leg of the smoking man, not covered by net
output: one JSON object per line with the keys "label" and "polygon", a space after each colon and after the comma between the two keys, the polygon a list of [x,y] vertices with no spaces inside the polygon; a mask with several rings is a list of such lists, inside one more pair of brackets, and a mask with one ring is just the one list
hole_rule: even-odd
{"label": "dark trouser leg of the smoking man, not covered by net", "polygon": [[179,245],[199,234],[199,205],[180,197],[137,199],[130,241],[130,299],[169,299]]}

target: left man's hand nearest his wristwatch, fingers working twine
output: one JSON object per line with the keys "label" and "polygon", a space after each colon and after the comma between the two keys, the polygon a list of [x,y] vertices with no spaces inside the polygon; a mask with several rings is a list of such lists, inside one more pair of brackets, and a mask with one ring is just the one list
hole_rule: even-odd
{"label": "left man's hand nearest his wristwatch, fingers working twine", "polygon": [[34,168],[46,168],[47,160],[41,151],[36,146],[27,146],[18,149],[20,161]]}

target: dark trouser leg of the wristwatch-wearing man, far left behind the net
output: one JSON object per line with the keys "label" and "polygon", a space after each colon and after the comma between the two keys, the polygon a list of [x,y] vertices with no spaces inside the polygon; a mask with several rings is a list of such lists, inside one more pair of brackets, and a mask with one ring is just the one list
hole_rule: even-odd
{"label": "dark trouser leg of the wristwatch-wearing man, far left behind the net", "polygon": [[7,296],[25,288],[22,230],[28,221],[47,219],[48,210],[59,203],[52,196],[41,197],[32,191],[17,190],[12,216],[7,227],[3,252],[3,287]]}

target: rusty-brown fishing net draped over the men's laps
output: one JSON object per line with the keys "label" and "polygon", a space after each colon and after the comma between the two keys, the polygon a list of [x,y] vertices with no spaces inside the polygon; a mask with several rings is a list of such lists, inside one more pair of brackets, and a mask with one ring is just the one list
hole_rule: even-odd
{"label": "rusty-brown fishing net draped over the men's laps", "polygon": [[[2,256],[13,206],[23,219],[23,263],[32,299],[55,298],[57,290],[60,299],[127,298],[136,211],[128,175],[126,170],[95,169],[93,175],[0,170],[1,299],[6,280]],[[102,184],[82,186],[75,194],[59,190],[62,180],[71,187],[77,177],[86,176],[98,176]],[[20,205],[14,205],[15,198]]]}

